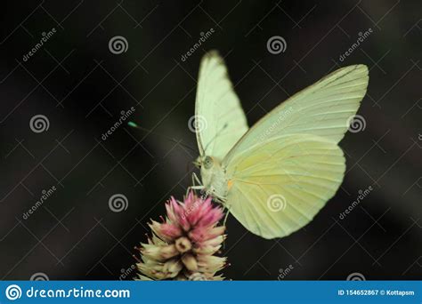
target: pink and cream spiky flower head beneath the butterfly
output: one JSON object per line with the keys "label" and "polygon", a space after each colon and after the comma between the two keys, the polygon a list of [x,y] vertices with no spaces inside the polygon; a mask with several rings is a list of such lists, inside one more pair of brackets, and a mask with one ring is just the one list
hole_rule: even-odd
{"label": "pink and cream spiky flower head beneath the butterfly", "polygon": [[166,203],[166,220],[152,220],[152,236],[139,248],[137,264],[142,280],[223,280],[215,275],[226,266],[226,258],[215,256],[225,239],[223,210],[193,192],[178,202]]}

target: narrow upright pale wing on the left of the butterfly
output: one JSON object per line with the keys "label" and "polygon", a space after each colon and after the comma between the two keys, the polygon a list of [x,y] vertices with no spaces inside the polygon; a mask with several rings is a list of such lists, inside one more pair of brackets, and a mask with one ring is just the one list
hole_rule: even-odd
{"label": "narrow upright pale wing on the left of the butterfly", "polygon": [[201,156],[220,161],[248,131],[239,98],[218,52],[208,52],[201,61],[195,106],[196,133]]}

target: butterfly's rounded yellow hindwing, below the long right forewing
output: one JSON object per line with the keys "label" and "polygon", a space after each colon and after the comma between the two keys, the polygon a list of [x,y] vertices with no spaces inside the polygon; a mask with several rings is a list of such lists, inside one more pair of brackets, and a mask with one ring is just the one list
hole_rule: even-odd
{"label": "butterfly's rounded yellow hindwing, below the long right forewing", "polygon": [[344,174],[345,157],[331,140],[309,134],[280,136],[231,160],[227,205],[256,235],[288,236],[335,195]]}

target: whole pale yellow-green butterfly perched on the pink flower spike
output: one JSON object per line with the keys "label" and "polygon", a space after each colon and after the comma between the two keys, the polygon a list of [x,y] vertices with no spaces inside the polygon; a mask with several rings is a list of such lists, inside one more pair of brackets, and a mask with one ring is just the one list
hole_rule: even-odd
{"label": "whole pale yellow-green butterfly perched on the pink flower spike", "polygon": [[222,57],[200,63],[195,132],[197,189],[267,239],[303,228],[345,176],[343,139],[369,82],[368,68],[339,68],[273,108],[252,127]]}

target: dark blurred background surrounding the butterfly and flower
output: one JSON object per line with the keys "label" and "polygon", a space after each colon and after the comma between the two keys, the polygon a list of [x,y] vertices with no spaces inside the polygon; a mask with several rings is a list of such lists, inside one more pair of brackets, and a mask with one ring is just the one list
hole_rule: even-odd
{"label": "dark blurred background surrounding the butterfly and flower", "polygon": [[[347,173],[337,196],[305,228],[277,240],[254,236],[230,217],[223,255],[231,267],[224,275],[421,278],[420,1],[15,0],[2,6],[0,278],[134,276],[134,245],[145,241],[147,222],[191,185],[197,152],[188,120],[199,60],[211,49],[225,57],[250,125],[338,67],[369,67],[359,110],[365,128],[341,142]],[[210,28],[215,33],[182,60]],[[126,52],[110,49],[115,36],[126,40],[120,38]],[[285,39],[285,52],[267,50],[272,36]],[[128,120],[152,132],[126,120],[104,140],[131,107]],[[369,195],[340,219],[369,186]],[[43,191],[48,197],[37,204]],[[127,198],[126,210],[110,209],[116,194]]]}

